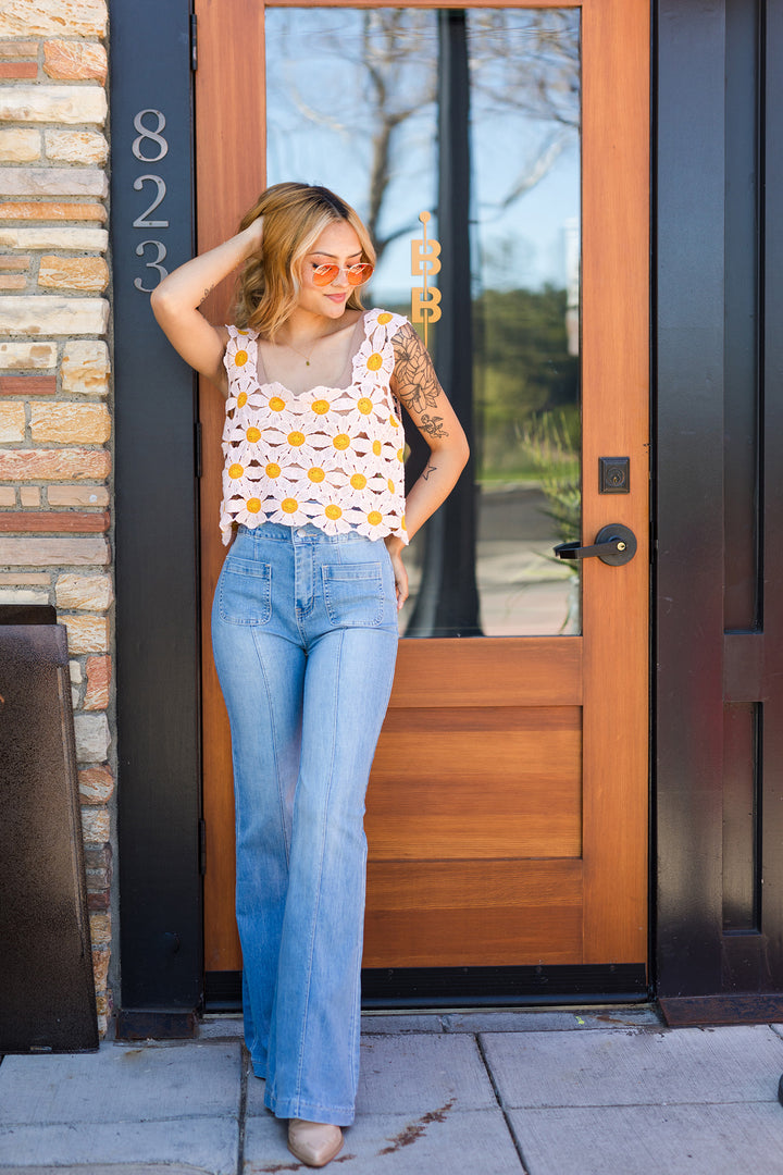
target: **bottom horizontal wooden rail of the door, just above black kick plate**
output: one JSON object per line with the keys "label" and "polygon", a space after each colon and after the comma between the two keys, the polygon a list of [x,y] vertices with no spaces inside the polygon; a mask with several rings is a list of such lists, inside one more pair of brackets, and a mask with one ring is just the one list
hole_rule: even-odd
{"label": "bottom horizontal wooden rail of the door, just above black kick plate", "polygon": [[371,861],[367,894],[365,967],[581,962],[578,860]]}

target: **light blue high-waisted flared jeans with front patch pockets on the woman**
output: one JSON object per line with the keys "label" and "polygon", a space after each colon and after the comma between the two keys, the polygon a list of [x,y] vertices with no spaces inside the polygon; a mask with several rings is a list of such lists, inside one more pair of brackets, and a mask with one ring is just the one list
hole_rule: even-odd
{"label": "light blue high-waisted flared jeans with front patch pockets on the woman", "polygon": [[383,540],[239,528],[212,647],[231,723],[244,1035],[278,1117],[353,1121],[364,799],[397,640]]}

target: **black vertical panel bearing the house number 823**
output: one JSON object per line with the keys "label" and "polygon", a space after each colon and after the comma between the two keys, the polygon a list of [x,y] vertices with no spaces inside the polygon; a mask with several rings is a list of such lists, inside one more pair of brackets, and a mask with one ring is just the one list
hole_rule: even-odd
{"label": "black vertical panel bearing the house number 823", "polygon": [[201,999],[195,388],[149,290],[191,256],[189,0],[115,0],[112,250],[123,1009]]}

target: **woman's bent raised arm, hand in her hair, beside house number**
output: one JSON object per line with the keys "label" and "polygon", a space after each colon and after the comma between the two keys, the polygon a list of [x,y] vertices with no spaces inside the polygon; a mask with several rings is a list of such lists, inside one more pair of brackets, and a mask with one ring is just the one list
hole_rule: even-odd
{"label": "woman's bent raised arm, hand in her hair, beside house number", "polygon": [[185,363],[225,391],[225,333],[198,310],[207,295],[232,269],[261,249],[261,217],[242,233],[185,261],[153,290],[150,304],[161,329]]}

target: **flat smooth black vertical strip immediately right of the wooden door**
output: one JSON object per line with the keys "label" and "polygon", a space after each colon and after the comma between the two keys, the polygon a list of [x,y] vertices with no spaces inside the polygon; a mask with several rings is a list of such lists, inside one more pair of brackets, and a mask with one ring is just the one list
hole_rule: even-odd
{"label": "flat smooth black vertical strip immediately right of the wooden door", "polygon": [[660,0],[657,45],[657,979],[703,994],[722,929],[722,0]]}

